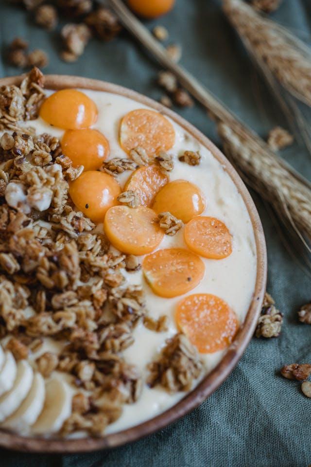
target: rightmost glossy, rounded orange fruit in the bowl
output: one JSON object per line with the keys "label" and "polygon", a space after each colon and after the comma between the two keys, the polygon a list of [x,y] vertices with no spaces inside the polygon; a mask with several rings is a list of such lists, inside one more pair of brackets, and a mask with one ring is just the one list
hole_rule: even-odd
{"label": "rightmost glossy, rounded orange fruit in the bowl", "polygon": [[200,188],[187,180],[167,183],[156,195],[152,209],[156,214],[169,211],[185,224],[199,216],[206,208],[206,199]]}

